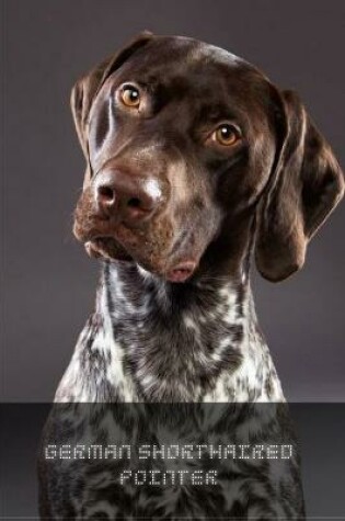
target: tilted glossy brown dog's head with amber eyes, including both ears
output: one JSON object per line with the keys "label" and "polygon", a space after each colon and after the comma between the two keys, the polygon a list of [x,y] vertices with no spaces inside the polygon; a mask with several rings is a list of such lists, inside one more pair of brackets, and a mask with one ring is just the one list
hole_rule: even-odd
{"label": "tilted glossy brown dog's head with amber eyes, including both ears", "polygon": [[77,238],[173,282],[237,270],[253,229],[260,272],[287,278],[343,195],[298,97],[192,38],[139,35],[77,82],[71,107],[88,163]]}

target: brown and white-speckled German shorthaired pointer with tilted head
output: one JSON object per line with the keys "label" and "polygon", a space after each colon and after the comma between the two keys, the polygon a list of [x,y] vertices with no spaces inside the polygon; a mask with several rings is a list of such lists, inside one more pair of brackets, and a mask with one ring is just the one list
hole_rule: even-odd
{"label": "brown and white-speckled German shorthaired pointer with tilted head", "polygon": [[[285,398],[255,316],[251,254],[265,279],[291,275],[344,192],[298,95],[223,49],[142,33],[77,82],[71,107],[87,159],[73,231],[102,272],[56,404],[278,407]],[[261,441],[288,430],[274,410],[256,429]],[[112,513],[85,510],[81,499],[64,510],[45,465],[43,516],[134,519],[119,496]],[[231,500],[202,511],[191,500],[163,513],[157,490],[141,510],[139,492],[122,488],[122,497],[136,497],[148,519],[301,519],[298,465],[274,475],[263,464],[260,488],[253,463]],[[238,483],[240,471],[231,472]]]}

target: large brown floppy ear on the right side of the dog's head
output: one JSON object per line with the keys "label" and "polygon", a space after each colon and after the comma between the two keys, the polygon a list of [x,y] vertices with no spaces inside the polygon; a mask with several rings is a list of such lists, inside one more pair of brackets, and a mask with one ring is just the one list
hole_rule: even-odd
{"label": "large brown floppy ear on the right side of the dog's head", "polygon": [[308,241],[344,194],[342,170],[298,95],[275,92],[280,144],[258,204],[255,247],[260,273],[274,282],[303,265]]}

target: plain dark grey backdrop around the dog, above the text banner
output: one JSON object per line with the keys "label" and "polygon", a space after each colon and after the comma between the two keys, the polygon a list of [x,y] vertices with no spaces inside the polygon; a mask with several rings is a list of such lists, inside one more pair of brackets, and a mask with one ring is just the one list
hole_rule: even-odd
{"label": "plain dark grey backdrop around the dog, above the text banner", "polygon": [[[92,310],[97,274],[71,236],[84,169],[69,112],[74,80],[143,29],[205,39],[298,90],[344,167],[345,2],[9,0],[2,7],[1,399],[49,401]],[[255,275],[258,317],[290,400],[345,398],[344,215],[345,204],[292,279],[274,285]]]}

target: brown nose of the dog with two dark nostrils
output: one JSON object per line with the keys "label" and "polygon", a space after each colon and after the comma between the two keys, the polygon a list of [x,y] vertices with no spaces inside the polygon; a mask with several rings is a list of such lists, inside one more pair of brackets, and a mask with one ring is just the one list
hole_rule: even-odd
{"label": "brown nose of the dog with two dark nostrils", "polygon": [[157,209],[162,201],[162,190],[153,178],[106,170],[96,177],[95,197],[102,213],[136,225]]}

